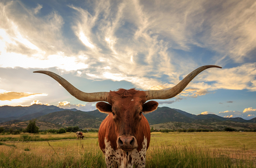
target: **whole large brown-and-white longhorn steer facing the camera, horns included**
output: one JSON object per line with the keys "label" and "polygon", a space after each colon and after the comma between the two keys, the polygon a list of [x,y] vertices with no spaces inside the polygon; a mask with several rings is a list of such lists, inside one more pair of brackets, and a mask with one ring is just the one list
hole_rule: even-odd
{"label": "whole large brown-and-white longhorn steer facing the camera, horns included", "polygon": [[215,65],[197,68],[169,90],[119,89],[118,91],[96,93],[82,92],[53,72],[36,72],[51,76],[79,100],[98,102],[96,104],[98,110],[108,114],[100,125],[98,133],[99,145],[106,156],[108,168],[133,168],[133,166],[144,168],[146,150],[150,143],[150,127],[142,113],[152,112],[158,106],[158,102],[148,100],[169,99],[176,96],[196,75],[212,67],[221,68]]}

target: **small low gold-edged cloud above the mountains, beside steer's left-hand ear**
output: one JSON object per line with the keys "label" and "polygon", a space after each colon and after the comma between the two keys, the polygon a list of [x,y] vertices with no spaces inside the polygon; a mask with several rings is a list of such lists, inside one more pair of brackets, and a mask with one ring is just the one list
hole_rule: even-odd
{"label": "small low gold-edged cloud above the mountains, beside steer's left-hand ear", "polygon": [[70,102],[64,101],[59,102],[57,107],[66,109],[76,108],[77,110],[81,111],[92,111],[96,110],[96,102],[87,102],[86,104],[70,104]]}

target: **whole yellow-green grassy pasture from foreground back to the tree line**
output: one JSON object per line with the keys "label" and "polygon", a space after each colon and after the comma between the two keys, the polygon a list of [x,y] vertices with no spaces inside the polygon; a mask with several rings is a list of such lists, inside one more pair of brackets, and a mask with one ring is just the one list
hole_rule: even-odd
{"label": "whole yellow-green grassy pasture from foreground back to the tree line", "polygon": [[[86,133],[81,141],[70,139],[74,135],[39,134],[30,136],[40,136],[44,141],[1,142],[0,167],[106,167],[97,133]],[[18,136],[22,135],[0,135],[0,139]],[[255,144],[256,132],[152,132],[146,167],[255,168]]]}

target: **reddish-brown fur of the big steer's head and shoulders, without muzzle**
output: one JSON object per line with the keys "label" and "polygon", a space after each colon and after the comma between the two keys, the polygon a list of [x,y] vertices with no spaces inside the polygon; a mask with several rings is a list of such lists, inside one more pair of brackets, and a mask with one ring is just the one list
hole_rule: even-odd
{"label": "reddish-brown fur of the big steer's head and shoulders, without muzzle", "polygon": [[[105,138],[110,141],[111,147],[117,150],[117,138],[121,135],[134,136],[138,142],[137,150],[142,148],[144,136],[147,138],[147,149],[150,143],[150,126],[147,119],[140,115],[140,112],[154,111],[158,103],[155,101],[146,102],[144,91],[136,89],[119,89],[110,91],[108,103],[98,102],[96,107],[100,112],[109,115],[103,120],[99,130],[99,145],[104,152]],[[144,104],[145,103],[145,104]],[[111,107],[111,110],[110,110]],[[115,115],[113,115],[114,113]]]}

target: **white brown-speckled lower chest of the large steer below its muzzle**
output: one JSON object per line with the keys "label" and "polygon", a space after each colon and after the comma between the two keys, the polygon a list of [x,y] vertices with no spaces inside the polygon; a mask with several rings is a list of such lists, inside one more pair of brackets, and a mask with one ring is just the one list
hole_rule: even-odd
{"label": "white brown-speckled lower chest of the large steer below its muzzle", "polygon": [[147,151],[147,138],[144,136],[144,141],[142,142],[142,149],[138,152],[134,149],[132,152],[124,153],[121,149],[114,150],[110,141],[107,142],[105,138],[105,161],[107,168],[145,168],[146,164],[146,151]]}

